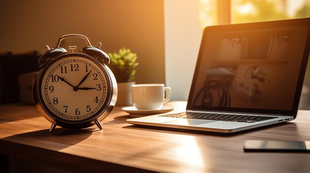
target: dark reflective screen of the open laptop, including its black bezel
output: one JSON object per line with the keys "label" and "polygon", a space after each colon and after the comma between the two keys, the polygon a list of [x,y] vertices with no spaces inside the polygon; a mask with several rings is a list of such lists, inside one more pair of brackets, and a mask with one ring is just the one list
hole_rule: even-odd
{"label": "dark reflective screen of the open laptop, including its black bezel", "polygon": [[207,27],[187,109],[297,113],[310,19]]}

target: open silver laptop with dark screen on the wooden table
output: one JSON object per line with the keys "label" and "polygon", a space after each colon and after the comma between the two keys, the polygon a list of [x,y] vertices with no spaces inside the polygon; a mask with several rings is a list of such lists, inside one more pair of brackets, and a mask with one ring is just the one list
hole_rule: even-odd
{"label": "open silver laptop with dark screen on the wooden table", "polygon": [[309,33],[310,18],[207,27],[186,112],[127,122],[234,133],[294,120]]}

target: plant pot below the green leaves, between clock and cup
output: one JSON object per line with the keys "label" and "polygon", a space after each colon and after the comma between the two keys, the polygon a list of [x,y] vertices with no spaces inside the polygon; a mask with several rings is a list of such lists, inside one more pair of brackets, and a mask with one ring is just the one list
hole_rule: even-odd
{"label": "plant pot below the green leaves, between clock and cup", "polygon": [[136,84],[136,82],[120,82],[117,83],[117,101],[116,106],[130,106],[131,101],[131,85]]}

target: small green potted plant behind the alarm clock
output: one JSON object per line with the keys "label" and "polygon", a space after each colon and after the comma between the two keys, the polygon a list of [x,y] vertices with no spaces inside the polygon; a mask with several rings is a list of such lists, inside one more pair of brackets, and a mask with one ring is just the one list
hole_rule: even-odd
{"label": "small green potted plant behind the alarm clock", "polygon": [[111,70],[117,81],[118,95],[116,105],[132,105],[131,101],[131,85],[136,74],[137,54],[132,53],[130,49],[125,47],[119,49],[118,52],[108,53],[110,57]]}

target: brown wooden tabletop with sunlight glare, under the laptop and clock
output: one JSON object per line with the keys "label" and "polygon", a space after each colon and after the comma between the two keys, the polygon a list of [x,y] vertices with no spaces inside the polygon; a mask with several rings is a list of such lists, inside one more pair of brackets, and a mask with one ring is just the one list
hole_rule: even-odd
{"label": "brown wooden tabletop with sunlight glare, under the laptop and clock", "polygon": [[[172,102],[185,109],[185,102]],[[35,106],[0,105],[0,153],[74,172],[285,173],[310,172],[309,153],[245,153],[247,139],[310,140],[310,111],[282,125],[221,135],[130,125],[115,107],[96,126],[69,130],[51,123]]]}

